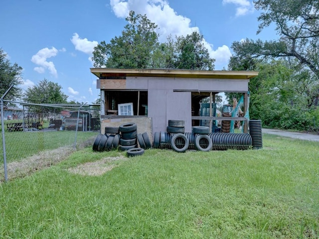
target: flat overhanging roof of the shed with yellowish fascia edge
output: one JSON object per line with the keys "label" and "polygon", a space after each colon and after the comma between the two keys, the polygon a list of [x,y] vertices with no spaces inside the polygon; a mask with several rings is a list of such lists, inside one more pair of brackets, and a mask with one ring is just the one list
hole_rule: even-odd
{"label": "flat overhanging roof of the shed with yellowish fascia edge", "polygon": [[250,79],[258,76],[258,71],[199,71],[181,69],[117,69],[90,68],[91,73],[100,76],[151,76],[151,77],[182,77],[182,78],[218,78],[218,79]]}

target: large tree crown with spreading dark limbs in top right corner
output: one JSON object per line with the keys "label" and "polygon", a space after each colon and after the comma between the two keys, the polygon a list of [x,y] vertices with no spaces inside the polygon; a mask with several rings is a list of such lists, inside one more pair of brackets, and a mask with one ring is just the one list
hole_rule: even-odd
{"label": "large tree crown with spreading dark limbs in top right corner", "polygon": [[319,1],[255,0],[262,13],[257,33],[271,23],[279,40],[235,41],[232,49],[240,58],[294,57],[319,79]]}

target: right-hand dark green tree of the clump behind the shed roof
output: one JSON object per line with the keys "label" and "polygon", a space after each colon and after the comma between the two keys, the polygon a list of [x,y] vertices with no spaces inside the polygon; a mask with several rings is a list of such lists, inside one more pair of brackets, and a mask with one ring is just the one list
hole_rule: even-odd
{"label": "right-hand dark green tree of the clump behind the shed roof", "polygon": [[203,44],[203,35],[194,31],[176,38],[174,67],[191,70],[213,70],[215,59],[209,57]]}

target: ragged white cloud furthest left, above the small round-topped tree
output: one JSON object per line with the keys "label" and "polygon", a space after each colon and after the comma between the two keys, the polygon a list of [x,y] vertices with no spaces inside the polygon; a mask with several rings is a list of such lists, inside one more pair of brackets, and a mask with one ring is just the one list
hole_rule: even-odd
{"label": "ragged white cloud furthest left, above the small round-topped tree", "polygon": [[35,55],[32,56],[31,61],[39,65],[39,67],[35,67],[33,70],[38,73],[44,73],[45,69],[48,69],[50,74],[57,77],[57,71],[52,61],[47,61],[48,58],[56,56],[58,50],[54,47],[51,49],[43,48],[39,50]]}

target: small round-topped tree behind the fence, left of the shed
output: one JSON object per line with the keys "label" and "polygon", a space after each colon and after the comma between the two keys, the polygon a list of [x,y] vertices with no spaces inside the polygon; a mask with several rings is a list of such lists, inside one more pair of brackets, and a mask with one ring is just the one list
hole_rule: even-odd
{"label": "small round-topped tree behind the fence, left of the shed", "polygon": [[68,96],[61,89],[62,87],[57,83],[44,79],[37,85],[29,87],[24,93],[23,100],[34,104],[67,103]]}

